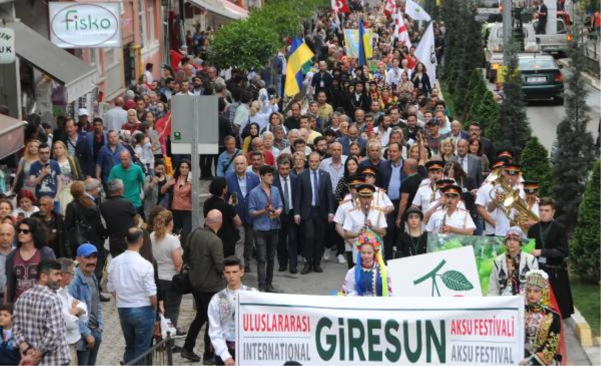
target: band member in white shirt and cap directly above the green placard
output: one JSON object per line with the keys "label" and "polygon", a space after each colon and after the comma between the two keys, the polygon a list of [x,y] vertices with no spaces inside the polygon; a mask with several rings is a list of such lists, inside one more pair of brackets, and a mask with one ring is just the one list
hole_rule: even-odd
{"label": "band member in white shirt and cap directly above the green placard", "polygon": [[445,206],[432,214],[426,225],[426,231],[439,234],[472,235],[476,229],[469,211],[457,207],[459,203],[459,185],[447,185],[442,188]]}

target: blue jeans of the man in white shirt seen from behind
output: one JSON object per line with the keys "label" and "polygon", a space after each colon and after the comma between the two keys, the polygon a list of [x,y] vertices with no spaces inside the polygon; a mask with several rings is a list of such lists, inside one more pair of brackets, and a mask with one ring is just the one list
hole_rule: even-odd
{"label": "blue jeans of the man in white shirt seen from behind", "polygon": [[123,361],[127,364],[150,348],[156,312],[152,306],[117,310],[125,338]]}

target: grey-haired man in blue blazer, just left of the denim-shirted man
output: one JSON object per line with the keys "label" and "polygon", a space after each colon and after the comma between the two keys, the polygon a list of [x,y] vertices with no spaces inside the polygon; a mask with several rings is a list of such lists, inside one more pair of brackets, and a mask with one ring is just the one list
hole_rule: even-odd
{"label": "grey-haired man in blue blazer, just left of the denim-shirted man", "polygon": [[[246,172],[246,158],[243,155],[234,159],[234,172],[227,175],[228,197],[236,194],[236,213],[242,219],[239,226],[240,237],[234,252],[238,258],[243,259],[246,273],[251,270],[250,259],[252,254],[252,217],[248,213],[248,196],[252,188],[259,185],[259,177],[252,172]],[[234,200],[236,202],[236,200]],[[242,255],[242,256],[240,256]]]}

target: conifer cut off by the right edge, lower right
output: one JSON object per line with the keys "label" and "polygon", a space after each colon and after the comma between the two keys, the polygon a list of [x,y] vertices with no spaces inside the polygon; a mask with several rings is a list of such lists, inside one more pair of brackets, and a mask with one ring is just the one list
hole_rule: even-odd
{"label": "conifer cut off by the right edge, lower right", "polygon": [[578,225],[570,244],[570,262],[578,268],[578,276],[587,282],[601,280],[601,160],[594,165],[593,177],[587,184],[578,208]]}

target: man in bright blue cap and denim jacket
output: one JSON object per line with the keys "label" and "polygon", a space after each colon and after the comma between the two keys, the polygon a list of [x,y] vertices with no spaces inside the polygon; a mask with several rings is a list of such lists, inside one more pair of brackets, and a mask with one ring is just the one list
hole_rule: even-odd
{"label": "man in bright blue cap and denim jacket", "polygon": [[102,341],[102,330],[105,323],[102,320],[102,305],[100,304],[100,288],[98,279],[94,275],[98,260],[98,252],[94,244],[81,244],[77,249],[76,257],[79,265],[75,268],[73,281],[69,286],[69,293],[88,309],[87,323],[79,323],[81,340],[77,344],[77,357],[79,365],[94,366]]}

